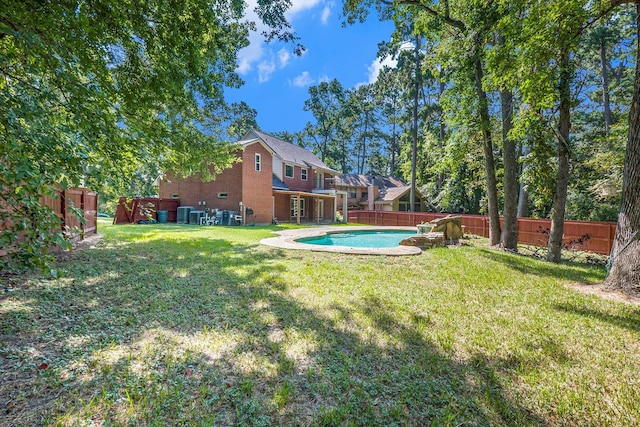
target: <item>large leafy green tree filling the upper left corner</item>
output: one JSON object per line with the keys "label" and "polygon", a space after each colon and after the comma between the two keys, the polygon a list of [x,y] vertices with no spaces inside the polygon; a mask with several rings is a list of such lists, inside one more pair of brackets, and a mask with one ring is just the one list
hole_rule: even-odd
{"label": "large leafy green tree filling the upper left corner", "polygon": [[[267,39],[295,42],[289,4],[258,3]],[[3,270],[12,260],[43,266],[32,255],[61,242],[50,233],[55,216],[37,203],[54,186],[97,187],[146,162],[205,175],[231,164],[220,118],[229,117],[224,88],[241,84],[237,53],[255,26],[244,8],[235,0],[0,3]]]}

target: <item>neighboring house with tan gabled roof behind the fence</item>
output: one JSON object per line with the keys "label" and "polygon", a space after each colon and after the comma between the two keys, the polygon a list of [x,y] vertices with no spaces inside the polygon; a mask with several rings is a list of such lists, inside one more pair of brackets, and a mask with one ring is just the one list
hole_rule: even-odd
{"label": "neighboring house with tan gabled roof behind the fence", "polygon": [[[339,194],[338,204],[345,203],[341,194],[346,194],[346,204],[352,210],[410,211],[411,186],[400,178],[344,174],[336,176],[331,187]],[[423,197],[416,189],[414,212],[424,210],[422,201]]]}

